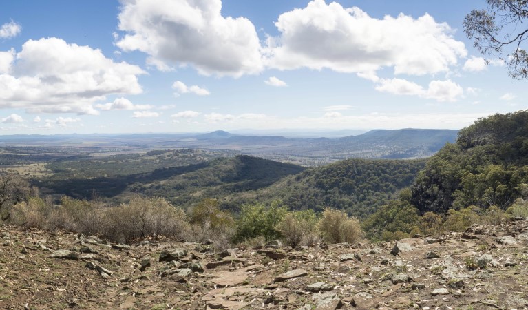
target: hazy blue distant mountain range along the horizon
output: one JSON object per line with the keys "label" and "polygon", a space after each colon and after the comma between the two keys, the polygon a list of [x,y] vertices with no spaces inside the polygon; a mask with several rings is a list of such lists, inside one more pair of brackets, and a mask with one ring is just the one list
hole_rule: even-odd
{"label": "hazy blue distant mountain range along the horizon", "polygon": [[238,135],[218,130],[206,134],[70,134],[0,136],[0,146],[127,147],[129,149],[222,149],[284,160],[295,158],[425,158],[445,143],[454,143],[458,130],[371,130],[342,138],[286,138]]}

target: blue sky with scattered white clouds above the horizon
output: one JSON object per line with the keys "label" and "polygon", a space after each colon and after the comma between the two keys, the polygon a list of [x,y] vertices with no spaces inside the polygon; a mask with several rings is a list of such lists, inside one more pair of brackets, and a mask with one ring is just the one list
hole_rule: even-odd
{"label": "blue sky with scattered white clouds above the horizon", "polygon": [[484,0],[0,3],[0,135],[460,129],[528,81],[463,32]]}

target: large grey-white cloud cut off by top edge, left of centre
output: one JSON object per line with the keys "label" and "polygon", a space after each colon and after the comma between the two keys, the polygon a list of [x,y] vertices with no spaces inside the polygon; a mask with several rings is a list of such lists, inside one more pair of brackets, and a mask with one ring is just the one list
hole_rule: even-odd
{"label": "large grey-white cloud cut off by top edge, left of centre", "polygon": [[242,76],[262,70],[260,42],[249,19],[222,17],[221,0],[121,0],[116,45],[149,54],[149,65],[193,65],[200,74]]}

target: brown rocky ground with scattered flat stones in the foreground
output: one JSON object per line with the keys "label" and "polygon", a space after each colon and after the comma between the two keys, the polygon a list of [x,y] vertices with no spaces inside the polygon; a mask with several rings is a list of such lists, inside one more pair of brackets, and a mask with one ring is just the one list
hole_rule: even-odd
{"label": "brown rocky ground with scattered flat stones in the foreground", "polygon": [[213,251],[0,227],[1,309],[528,309],[528,222]]}

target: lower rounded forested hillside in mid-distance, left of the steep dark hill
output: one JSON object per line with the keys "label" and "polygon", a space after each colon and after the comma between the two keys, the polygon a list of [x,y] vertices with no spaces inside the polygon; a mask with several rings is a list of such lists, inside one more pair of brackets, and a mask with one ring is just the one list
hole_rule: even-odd
{"label": "lower rounded forested hillside in mid-distance, left of the steep dark hill", "polygon": [[258,198],[280,198],[291,209],[344,209],[364,217],[414,181],[425,160],[348,159],[308,169],[262,191]]}

